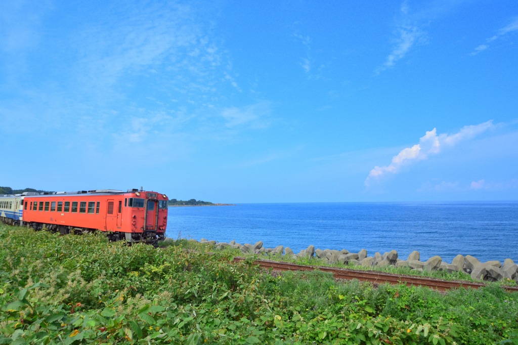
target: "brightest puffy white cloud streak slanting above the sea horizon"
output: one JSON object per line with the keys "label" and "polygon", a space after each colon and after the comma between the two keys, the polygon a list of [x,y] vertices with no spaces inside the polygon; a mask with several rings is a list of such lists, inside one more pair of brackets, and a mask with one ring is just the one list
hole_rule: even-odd
{"label": "brightest puffy white cloud streak slanting above the sea horizon", "polygon": [[437,130],[434,128],[426,132],[426,134],[419,139],[419,143],[401,150],[392,158],[392,162],[389,165],[375,166],[370,170],[365,180],[365,185],[369,186],[373,180],[379,180],[384,175],[397,174],[403,166],[426,160],[429,156],[439,154],[444,149],[455,146],[459,141],[471,139],[490,128],[494,128],[493,120],[478,125],[464,126],[459,132],[451,135],[437,135]]}

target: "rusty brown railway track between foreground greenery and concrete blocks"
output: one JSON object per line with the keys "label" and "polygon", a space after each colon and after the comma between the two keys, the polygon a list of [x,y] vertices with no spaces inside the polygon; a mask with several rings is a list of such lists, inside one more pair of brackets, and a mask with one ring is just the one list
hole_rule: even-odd
{"label": "rusty brown railway track between foreground greenery and concrete blocks", "polygon": [[[235,257],[235,262],[242,262],[245,259],[243,257]],[[437,291],[447,291],[450,289],[458,289],[460,287],[472,287],[478,289],[481,286],[485,286],[484,283],[474,283],[468,281],[448,281],[435,278],[416,277],[416,276],[402,276],[393,275],[384,272],[376,271],[359,271],[346,268],[334,268],[325,266],[305,266],[296,265],[284,262],[275,262],[269,260],[256,260],[254,264],[261,266],[262,268],[272,269],[277,271],[312,271],[319,269],[323,272],[330,272],[336,279],[358,279],[360,281],[368,281],[375,284],[391,283],[391,284],[406,284],[427,286]],[[518,287],[514,286],[503,286],[508,291],[518,292]]]}

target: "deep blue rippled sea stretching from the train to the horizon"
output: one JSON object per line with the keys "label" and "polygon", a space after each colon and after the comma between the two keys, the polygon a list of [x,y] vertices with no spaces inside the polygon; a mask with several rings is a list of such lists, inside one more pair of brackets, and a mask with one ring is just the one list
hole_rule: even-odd
{"label": "deep blue rippled sea stretching from the train to the horizon", "polygon": [[294,203],[169,207],[167,236],[241,244],[263,241],[295,253],[366,249],[370,256],[393,249],[404,260],[457,254],[480,261],[518,263],[518,202]]}

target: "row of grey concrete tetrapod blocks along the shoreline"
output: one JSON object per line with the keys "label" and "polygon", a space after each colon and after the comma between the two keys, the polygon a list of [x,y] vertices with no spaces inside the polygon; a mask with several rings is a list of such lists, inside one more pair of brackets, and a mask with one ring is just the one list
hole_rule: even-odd
{"label": "row of grey concrete tetrapod blocks along the shoreline", "polygon": [[264,248],[263,242],[258,241],[253,245],[251,243],[237,243],[236,241],[217,242],[209,241],[202,238],[200,243],[208,243],[217,248],[233,248],[239,249],[243,253],[256,253],[264,256],[269,255],[288,255],[295,257],[318,257],[329,264],[354,265],[364,268],[395,266],[395,267],[409,267],[414,271],[434,271],[441,270],[447,272],[465,272],[469,274],[474,280],[484,281],[500,281],[500,280],[514,280],[518,283],[518,265],[513,260],[507,258],[502,262],[494,260],[481,262],[476,257],[471,255],[455,256],[451,263],[442,261],[438,255],[428,258],[426,261],[421,261],[421,254],[419,251],[413,251],[406,259],[400,258],[396,250],[374,253],[369,256],[367,250],[362,249],[357,253],[349,252],[346,249],[332,250],[332,249],[315,249],[314,246],[309,246],[298,253],[293,252],[289,247],[277,246],[275,248]]}

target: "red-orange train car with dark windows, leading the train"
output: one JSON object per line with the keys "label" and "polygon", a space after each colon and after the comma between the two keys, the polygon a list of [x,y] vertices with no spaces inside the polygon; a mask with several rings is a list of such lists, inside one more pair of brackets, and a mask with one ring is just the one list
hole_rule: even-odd
{"label": "red-orange train car with dark windows, leading the train", "polygon": [[94,190],[26,196],[23,221],[62,234],[106,232],[111,240],[156,243],[165,239],[165,194]]}

